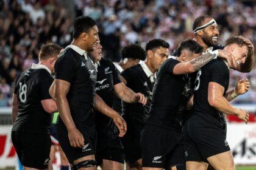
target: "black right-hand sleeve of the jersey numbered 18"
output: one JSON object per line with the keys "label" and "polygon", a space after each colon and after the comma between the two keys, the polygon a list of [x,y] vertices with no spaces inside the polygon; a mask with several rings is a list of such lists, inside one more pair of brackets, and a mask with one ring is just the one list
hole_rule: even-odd
{"label": "black right-hand sleeve of the jersey numbered 18", "polygon": [[52,82],[53,82],[53,78],[48,76],[48,77],[44,77],[44,79],[38,83],[38,87],[40,90],[39,91],[40,100],[46,100],[51,98],[49,94],[49,88]]}

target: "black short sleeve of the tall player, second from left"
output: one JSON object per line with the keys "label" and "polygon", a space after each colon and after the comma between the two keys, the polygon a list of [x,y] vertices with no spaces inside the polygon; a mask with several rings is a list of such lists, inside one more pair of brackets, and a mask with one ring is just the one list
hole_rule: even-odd
{"label": "black short sleeve of the tall player, second from left", "polygon": [[76,60],[73,56],[63,53],[55,64],[55,78],[71,83],[76,73]]}

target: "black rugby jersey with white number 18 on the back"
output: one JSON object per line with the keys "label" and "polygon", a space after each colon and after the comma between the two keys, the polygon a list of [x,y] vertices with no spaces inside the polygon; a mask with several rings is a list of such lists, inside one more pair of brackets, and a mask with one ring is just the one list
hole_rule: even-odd
{"label": "black rugby jersey with white number 18 on the back", "polygon": [[14,94],[18,98],[18,115],[12,131],[49,133],[51,114],[41,105],[41,100],[50,99],[49,87],[53,82],[50,70],[41,64],[21,73],[15,83]]}

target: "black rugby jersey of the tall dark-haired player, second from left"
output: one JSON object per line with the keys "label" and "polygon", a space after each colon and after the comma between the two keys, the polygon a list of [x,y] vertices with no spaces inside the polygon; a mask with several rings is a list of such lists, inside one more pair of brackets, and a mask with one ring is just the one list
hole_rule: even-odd
{"label": "black rugby jersey of the tall dark-haired player, second from left", "polygon": [[56,61],[55,78],[70,83],[66,98],[76,127],[94,126],[96,68],[91,57],[66,47]]}

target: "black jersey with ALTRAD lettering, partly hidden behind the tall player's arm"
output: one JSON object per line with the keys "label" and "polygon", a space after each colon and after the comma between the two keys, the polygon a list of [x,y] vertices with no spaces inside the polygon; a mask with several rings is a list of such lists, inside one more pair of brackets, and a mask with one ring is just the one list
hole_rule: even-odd
{"label": "black jersey with ALTRAD lettering, partly hidden behind the tall player's arm", "polygon": [[[113,99],[116,97],[113,87],[121,83],[119,72],[112,61],[107,58],[101,58],[97,67],[96,93],[104,102],[112,107]],[[118,137],[118,129],[113,123],[112,118],[95,110],[95,125],[98,135],[114,135]]]}

